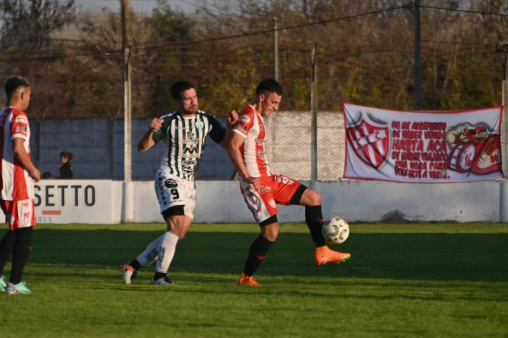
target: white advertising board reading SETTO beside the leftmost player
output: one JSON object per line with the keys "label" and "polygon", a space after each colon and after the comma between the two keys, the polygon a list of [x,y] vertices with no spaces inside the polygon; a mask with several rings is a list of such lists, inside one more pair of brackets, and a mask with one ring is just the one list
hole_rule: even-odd
{"label": "white advertising board reading SETTO beside the leftmost player", "polygon": [[111,180],[42,179],[35,183],[35,222],[118,223],[120,188]]}

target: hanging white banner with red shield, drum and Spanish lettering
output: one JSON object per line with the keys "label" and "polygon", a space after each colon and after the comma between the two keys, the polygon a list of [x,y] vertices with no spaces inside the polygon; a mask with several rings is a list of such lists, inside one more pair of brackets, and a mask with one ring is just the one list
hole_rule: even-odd
{"label": "hanging white banner with red shield, drum and Spanish lettering", "polygon": [[344,178],[443,183],[503,177],[502,107],[393,111],[343,103]]}

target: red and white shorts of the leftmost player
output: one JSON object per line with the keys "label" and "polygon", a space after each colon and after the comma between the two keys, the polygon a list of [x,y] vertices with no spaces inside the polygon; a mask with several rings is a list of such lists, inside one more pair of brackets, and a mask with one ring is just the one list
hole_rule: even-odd
{"label": "red and white shorts of the leftmost player", "polygon": [[35,206],[33,199],[22,201],[0,200],[0,206],[5,214],[5,221],[9,230],[35,226]]}

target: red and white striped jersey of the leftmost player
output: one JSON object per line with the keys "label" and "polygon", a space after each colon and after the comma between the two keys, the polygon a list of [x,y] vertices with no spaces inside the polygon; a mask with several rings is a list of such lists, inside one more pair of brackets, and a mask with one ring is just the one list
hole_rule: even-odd
{"label": "red and white striped jersey of the leftmost player", "polygon": [[19,201],[34,198],[34,181],[27,170],[14,159],[12,143],[15,138],[25,140],[23,145],[30,158],[30,125],[24,112],[6,107],[0,111],[0,166],[2,170],[3,200]]}

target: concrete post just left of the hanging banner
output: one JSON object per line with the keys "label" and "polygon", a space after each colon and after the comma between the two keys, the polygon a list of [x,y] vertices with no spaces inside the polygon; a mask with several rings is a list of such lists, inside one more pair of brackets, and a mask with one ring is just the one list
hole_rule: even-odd
{"label": "concrete post just left of the hanging banner", "polygon": [[310,64],[310,179],[318,180],[318,43],[312,48]]}

